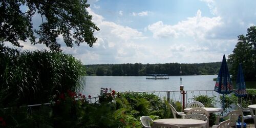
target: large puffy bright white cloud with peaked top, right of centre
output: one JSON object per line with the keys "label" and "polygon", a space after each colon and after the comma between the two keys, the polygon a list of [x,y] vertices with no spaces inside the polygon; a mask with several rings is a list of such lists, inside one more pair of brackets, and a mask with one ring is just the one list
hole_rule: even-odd
{"label": "large puffy bright white cloud with peaked top, right of centre", "polygon": [[191,36],[194,39],[204,38],[205,33],[222,25],[221,17],[202,17],[198,10],[195,17],[188,17],[176,25],[164,25],[162,21],[149,25],[147,28],[153,32],[154,38]]}

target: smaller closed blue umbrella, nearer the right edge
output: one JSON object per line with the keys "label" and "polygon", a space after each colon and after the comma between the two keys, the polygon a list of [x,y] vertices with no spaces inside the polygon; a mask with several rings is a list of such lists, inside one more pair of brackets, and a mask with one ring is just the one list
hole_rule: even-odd
{"label": "smaller closed blue umbrella, nearer the right edge", "polygon": [[239,63],[238,67],[238,76],[237,76],[237,89],[236,92],[234,93],[238,97],[244,97],[247,95],[247,92],[245,90],[245,82],[244,82],[244,74],[242,70],[242,64]]}

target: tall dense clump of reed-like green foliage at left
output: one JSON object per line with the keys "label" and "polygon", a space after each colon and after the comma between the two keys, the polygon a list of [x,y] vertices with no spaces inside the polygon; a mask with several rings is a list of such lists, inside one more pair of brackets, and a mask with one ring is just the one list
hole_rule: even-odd
{"label": "tall dense clump of reed-like green foliage at left", "polygon": [[[15,106],[46,103],[55,95],[80,88],[82,63],[60,52],[0,53],[0,104]],[[3,61],[2,61],[3,60]]]}

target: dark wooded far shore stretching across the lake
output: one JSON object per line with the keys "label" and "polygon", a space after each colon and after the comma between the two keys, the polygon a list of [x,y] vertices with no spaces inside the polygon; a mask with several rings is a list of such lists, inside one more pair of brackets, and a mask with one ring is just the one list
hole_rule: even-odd
{"label": "dark wooded far shore stretching across the lake", "polygon": [[102,64],[85,65],[87,75],[97,76],[145,76],[146,74],[211,75],[218,74],[221,62],[209,63],[164,63],[164,64]]}

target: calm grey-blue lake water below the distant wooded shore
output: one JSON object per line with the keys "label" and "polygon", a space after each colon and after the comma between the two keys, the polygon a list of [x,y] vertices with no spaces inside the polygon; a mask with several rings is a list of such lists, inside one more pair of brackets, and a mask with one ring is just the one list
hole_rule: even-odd
{"label": "calm grey-blue lake water below the distant wooded shore", "polygon": [[[180,90],[180,76],[169,79],[146,79],[146,76],[84,76],[86,85],[83,94],[92,97],[100,94],[100,88],[115,91],[177,91]],[[217,75],[182,76],[184,90],[213,90]]]}

